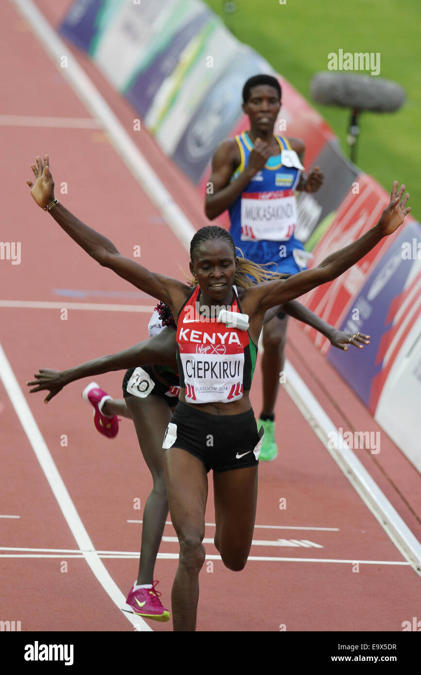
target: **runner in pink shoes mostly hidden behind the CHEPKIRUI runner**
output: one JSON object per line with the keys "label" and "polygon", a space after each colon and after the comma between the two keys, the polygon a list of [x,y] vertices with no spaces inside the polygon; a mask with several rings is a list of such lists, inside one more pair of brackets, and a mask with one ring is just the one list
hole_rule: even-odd
{"label": "runner in pink shoes mostly hidden behind the CHEPKIRUI runner", "polygon": [[[241,282],[241,280],[240,280]],[[266,312],[265,321],[272,314],[284,311],[322,332],[333,346],[347,350],[348,344],[362,348],[369,344],[364,333],[338,331],[297,300],[291,300]],[[93,421],[99,433],[114,438],[118,433],[118,415],[133,421],[145,462],[151,472],[153,489],[143,512],[141,555],[137,580],[126,599],[124,610],[143,618],[167,621],[170,613],[164,608],[153,581],[157,552],[164,533],[168,502],[164,480],[164,451],[162,439],[171,414],[178,403],[180,381],[176,373],[176,324],[170,308],[159,303],[149,321],[149,340],[134,345],[118,354],[101,356],[66,371],[40,369],[33,381],[27,382],[30,394],[49,391],[45,403],[63,387],[83,377],[93,377],[109,371],[128,368],[123,379],[122,400],[112,399],[91,383],[84,389],[84,399],[94,407]],[[130,385],[131,383],[131,385]],[[152,395],[152,396],[151,396]]]}

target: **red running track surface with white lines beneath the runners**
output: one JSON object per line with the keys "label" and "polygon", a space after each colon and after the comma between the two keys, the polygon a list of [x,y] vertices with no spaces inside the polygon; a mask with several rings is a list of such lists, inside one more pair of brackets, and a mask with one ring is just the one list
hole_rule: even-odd
{"label": "red running track surface with white lines beneath the runners", "polygon": [[[70,0],[39,0],[37,5],[54,26]],[[35,155],[49,153],[57,196],[66,181],[68,194],[61,197],[66,206],[122,252],[130,255],[133,246],[140,245],[141,263],[179,278],[178,266],[187,270],[188,255],[100,129],[40,127],[36,121],[22,126],[18,117],[5,120],[3,115],[83,119],[90,115],[8,3],[0,31],[1,76],[8,83],[0,125],[1,184],[6,195],[1,238],[22,244],[20,265],[0,261],[1,300],[58,302],[60,308],[68,308],[64,321],[60,308],[0,306],[0,342],[95,550],[132,552],[101,559],[126,595],[137,574],[134,556],[141,537],[141,524],[130,522],[141,520],[134,500],[145,504],[151,489],[134,429],[128,421],[122,423],[114,441],[95,432],[91,412],[80,399],[87,381],[68,386],[47,407],[42,395],[26,393],[24,383],[39,367],[66,369],[145,338],[149,313],[107,311],[105,306],[152,307],[154,301],[96,265],[36,208],[26,186]],[[130,132],[136,113],[89,61],[77,57]],[[168,164],[147,132],[131,134],[195,226],[205,224],[193,187]],[[80,297],[69,297],[65,290],[77,290]],[[73,309],[72,302],[103,303],[103,311]],[[378,429],[292,321],[287,356],[337,427]],[[100,383],[119,397],[122,375],[102,376]],[[260,391],[257,368],[253,385],[257,414]],[[401,631],[403,621],[419,614],[419,576],[283,390],[276,420],[280,454],[275,462],[259,467],[251,560],[240,573],[226,570],[220,560],[207,561],[201,572],[197,630]],[[20,620],[22,630],[28,631],[132,631],[84,558],[74,557],[78,545],[1,380],[0,421],[0,516],[19,516],[0,518],[0,620]],[[64,436],[67,445],[62,444]],[[378,456],[360,451],[358,457],[419,539],[418,472],[384,432]],[[209,556],[216,556],[212,481],[209,487],[205,537],[211,541],[205,548]],[[280,509],[282,505],[286,508]],[[178,552],[174,537],[168,524],[155,568],[167,607],[177,564],[171,558]],[[355,561],[360,561],[358,568]],[[22,583],[24,597],[16,594]],[[258,613],[255,608],[251,611],[256,597]],[[65,612],[52,611],[64,603]],[[154,631],[172,630],[172,622],[149,625]]]}

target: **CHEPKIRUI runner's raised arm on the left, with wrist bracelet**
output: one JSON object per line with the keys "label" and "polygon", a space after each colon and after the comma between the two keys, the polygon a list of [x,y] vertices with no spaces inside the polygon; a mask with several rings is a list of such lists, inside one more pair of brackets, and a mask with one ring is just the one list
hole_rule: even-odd
{"label": "CHEPKIRUI runner's raised arm on the left, with wrist bracelet", "polygon": [[[36,165],[32,164],[31,168],[36,178],[35,183],[30,180],[26,182],[36,204],[46,209],[54,200],[54,182],[49,169],[48,155],[44,157],[44,164],[41,157],[36,157]],[[109,267],[120,277],[130,281],[133,286],[176,309],[184,302],[189,293],[189,287],[185,284],[171,277],[150,272],[146,267],[122,256],[109,239],[82,223],[62,204],[53,206],[49,213],[61,229],[64,229],[76,244],[103,267]]]}

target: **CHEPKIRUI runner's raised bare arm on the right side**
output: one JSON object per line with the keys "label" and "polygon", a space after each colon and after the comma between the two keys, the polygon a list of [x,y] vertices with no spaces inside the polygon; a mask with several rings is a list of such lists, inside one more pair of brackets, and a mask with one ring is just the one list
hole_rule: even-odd
{"label": "CHEPKIRUI runner's raised bare arm on the right side", "polygon": [[[389,206],[383,211],[378,223],[369,229],[360,239],[330,254],[317,267],[305,269],[285,281],[266,281],[264,284],[257,284],[257,286],[247,288],[243,296],[245,301],[247,302],[248,300],[245,297],[247,295],[252,303],[251,306],[253,307],[254,305],[253,308],[258,306],[258,311],[266,311],[270,307],[294,300],[316,288],[316,286],[321,286],[322,284],[326,284],[327,281],[336,279],[349,267],[355,265],[383,237],[393,234],[399,225],[403,223],[405,215],[411,211],[409,207],[405,208],[410,196],[406,193],[403,197],[405,186],[401,186],[399,193],[397,193],[397,186],[398,183],[395,181]],[[401,202],[402,197],[403,200]],[[246,302],[243,301],[243,305]]]}

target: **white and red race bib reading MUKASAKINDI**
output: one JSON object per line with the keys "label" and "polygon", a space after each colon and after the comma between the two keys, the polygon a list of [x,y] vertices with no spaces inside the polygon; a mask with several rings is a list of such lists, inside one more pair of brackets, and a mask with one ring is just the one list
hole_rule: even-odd
{"label": "white and red race bib reading MUKASAKINDI", "polygon": [[284,242],[294,234],[297,202],[293,190],[243,192],[241,240]]}

